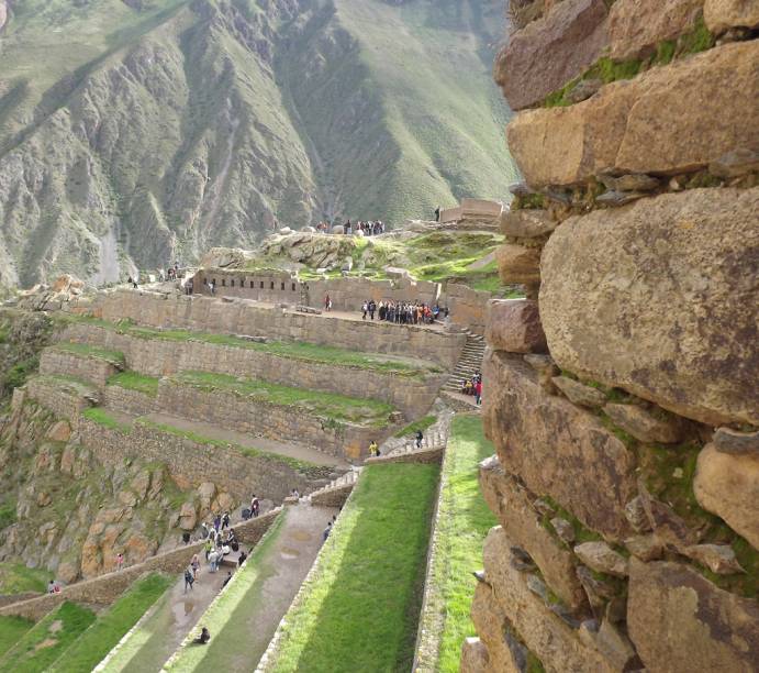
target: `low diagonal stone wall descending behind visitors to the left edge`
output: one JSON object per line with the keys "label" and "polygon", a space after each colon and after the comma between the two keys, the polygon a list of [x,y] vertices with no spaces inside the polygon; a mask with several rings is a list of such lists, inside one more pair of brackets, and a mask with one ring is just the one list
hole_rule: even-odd
{"label": "low diagonal stone wall descending behind visitors to the left edge", "polygon": [[[235,526],[237,538],[247,544],[256,544],[264,537],[271,523],[281,511],[281,507],[274,509],[256,519],[250,519]],[[201,553],[203,544],[197,542],[178,549],[158,554],[137,565],[125,567],[114,573],[108,573],[85,580],[70,586],[64,587],[59,594],[46,594],[31,600],[13,603],[0,607],[0,615],[25,617],[38,620],[47,615],[52,609],[60,605],[64,600],[83,603],[88,605],[107,606],[111,605],[121,596],[138,577],[145,573],[163,572],[168,574],[179,573],[190,563],[194,554]]]}

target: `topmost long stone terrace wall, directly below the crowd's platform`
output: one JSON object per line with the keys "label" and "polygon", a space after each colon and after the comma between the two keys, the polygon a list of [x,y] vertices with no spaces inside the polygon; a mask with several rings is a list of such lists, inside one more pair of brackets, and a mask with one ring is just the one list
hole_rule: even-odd
{"label": "topmost long stone terrace wall, directly below the crowd's platform", "polygon": [[118,290],[102,293],[94,305],[74,307],[105,320],[129,318],[139,324],[222,334],[247,334],[282,341],[305,341],[350,351],[403,355],[456,366],[466,335],[414,326],[353,321],[271,309],[245,300]]}

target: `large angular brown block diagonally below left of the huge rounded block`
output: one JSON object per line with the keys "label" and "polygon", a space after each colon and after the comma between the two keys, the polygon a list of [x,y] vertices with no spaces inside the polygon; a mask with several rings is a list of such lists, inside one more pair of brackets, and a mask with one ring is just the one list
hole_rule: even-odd
{"label": "large angular brown block diagonally below left of the huge rounded block", "polygon": [[484,426],[503,467],[550,495],[585,526],[622,539],[635,496],[633,456],[595,416],[548,395],[520,356],[488,351]]}

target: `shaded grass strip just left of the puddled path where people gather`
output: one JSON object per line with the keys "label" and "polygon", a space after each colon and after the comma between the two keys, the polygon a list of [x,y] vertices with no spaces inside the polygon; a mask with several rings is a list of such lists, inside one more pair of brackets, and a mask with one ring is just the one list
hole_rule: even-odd
{"label": "shaded grass strip just left of the puddled path where people gather", "polygon": [[55,673],[91,671],[174,582],[158,573],[137,580],[49,670]]}

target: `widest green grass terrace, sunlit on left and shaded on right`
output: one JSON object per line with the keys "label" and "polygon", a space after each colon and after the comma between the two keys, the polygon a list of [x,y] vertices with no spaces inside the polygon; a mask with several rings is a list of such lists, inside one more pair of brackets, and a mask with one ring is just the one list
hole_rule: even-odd
{"label": "widest green grass terrace, sunlit on left and shaded on right", "polygon": [[439,467],[365,467],[286,616],[272,671],[409,671]]}

